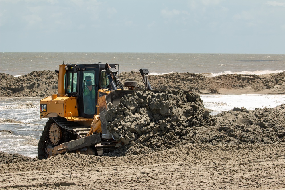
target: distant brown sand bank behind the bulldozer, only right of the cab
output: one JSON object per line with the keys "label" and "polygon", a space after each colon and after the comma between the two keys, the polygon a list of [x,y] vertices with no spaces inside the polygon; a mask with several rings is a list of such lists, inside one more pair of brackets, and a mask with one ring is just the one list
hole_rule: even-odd
{"label": "distant brown sand bank behind the bulldozer, only right of the cab", "polygon": [[[144,87],[138,72],[121,73],[121,81],[137,81]],[[205,77],[196,73],[170,73],[149,75],[148,79],[156,90],[190,90],[196,93],[284,93],[285,72],[267,75],[219,75]]]}

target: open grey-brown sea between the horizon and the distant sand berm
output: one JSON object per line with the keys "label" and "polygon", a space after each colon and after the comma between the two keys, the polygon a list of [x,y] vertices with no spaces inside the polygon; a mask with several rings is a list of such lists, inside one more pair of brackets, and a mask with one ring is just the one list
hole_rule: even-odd
{"label": "open grey-brown sea between the horizon and the distant sand berm", "polygon": [[17,76],[32,71],[54,71],[63,63],[97,62],[119,64],[120,72],[147,68],[151,74],[189,72],[209,77],[285,71],[285,54],[0,52],[0,73]]}

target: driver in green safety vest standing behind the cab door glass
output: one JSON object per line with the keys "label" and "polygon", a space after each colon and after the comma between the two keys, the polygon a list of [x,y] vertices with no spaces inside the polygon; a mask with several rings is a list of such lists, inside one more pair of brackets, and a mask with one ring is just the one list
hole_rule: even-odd
{"label": "driver in green safety vest standing behind the cab door glass", "polygon": [[86,86],[84,87],[84,110],[86,114],[94,114],[95,111],[95,101],[96,101],[96,91],[95,87],[92,85],[91,76],[85,77]]}

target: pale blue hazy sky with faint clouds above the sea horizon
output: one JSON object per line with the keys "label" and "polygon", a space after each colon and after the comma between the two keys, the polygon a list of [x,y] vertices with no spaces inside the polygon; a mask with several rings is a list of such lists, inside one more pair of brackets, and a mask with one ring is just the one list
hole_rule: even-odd
{"label": "pale blue hazy sky with faint clouds above the sea horizon", "polygon": [[284,47],[284,0],[0,0],[0,52],[285,54]]}

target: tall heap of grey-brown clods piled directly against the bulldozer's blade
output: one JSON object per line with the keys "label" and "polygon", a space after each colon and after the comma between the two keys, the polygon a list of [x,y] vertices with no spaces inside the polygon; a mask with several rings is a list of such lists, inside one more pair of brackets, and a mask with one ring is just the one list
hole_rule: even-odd
{"label": "tall heap of grey-brown clods piled directly against the bulldozer's blade", "polygon": [[137,91],[120,102],[105,117],[108,130],[124,146],[109,156],[142,154],[188,144],[197,127],[215,124],[196,93]]}

